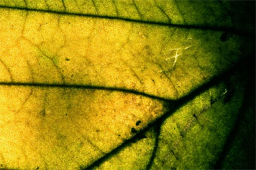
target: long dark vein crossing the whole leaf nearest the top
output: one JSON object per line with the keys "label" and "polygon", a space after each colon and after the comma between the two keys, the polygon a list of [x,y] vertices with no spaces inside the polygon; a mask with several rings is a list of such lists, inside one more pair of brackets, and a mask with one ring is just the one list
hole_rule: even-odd
{"label": "long dark vein crossing the whole leaf nearest the top", "polygon": [[47,13],[62,14],[62,15],[76,15],[76,16],[102,18],[102,19],[110,19],[110,20],[123,20],[123,21],[127,21],[127,22],[151,24],[151,25],[159,25],[159,26],[169,26],[169,27],[176,27],[176,28],[225,31],[225,32],[230,32],[230,33],[233,33],[233,34],[249,37],[251,39],[255,39],[255,35],[256,35],[255,32],[247,32],[247,31],[243,31],[243,30],[238,30],[238,29],[233,28],[233,27],[181,25],[181,24],[163,23],[163,22],[157,22],[157,21],[143,21],[143,20],[123,18],[123,17],[99,16],[99,15],[94,15],[94,14],[67,13],[67,12],[61,12],[61,11],[49,11],[49,10],[47,11],[47,10],[44,10],[44,9],[12,7],[12,6],[1,6],[1,8],[18,9],[18,10],[26,10],[26,11],[47,12]]}

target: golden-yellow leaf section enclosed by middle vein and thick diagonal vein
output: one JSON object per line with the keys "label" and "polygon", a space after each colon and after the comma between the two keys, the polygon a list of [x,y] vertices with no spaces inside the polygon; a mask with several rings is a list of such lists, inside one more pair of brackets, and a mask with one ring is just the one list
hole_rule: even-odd
{"label": "golden-yellow leaf section enclosed by middle vein and thick diagonal vein", "polygon": [[120,92],[1,86],[0,94],[0,160],[15,169],[91,164],[164,113],[161,102]]}

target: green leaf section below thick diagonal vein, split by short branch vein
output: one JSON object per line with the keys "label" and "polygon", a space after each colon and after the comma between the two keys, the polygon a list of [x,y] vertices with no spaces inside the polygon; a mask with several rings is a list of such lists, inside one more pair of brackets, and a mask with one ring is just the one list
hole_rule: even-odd
{"label": "green leaf section below thick diagonal vein, split by short branch vein", "polygon": [[[146,138],[133,144],[136,146],[126,146],[90,169],[213,168],[212,165],[218,158],[218,153],[221,152],[219,145],[225,143],[225,136],[230,132],[229,127],[233,125],[239,111],[238,108],[241,107],[243,93],[239,92],[243,91],[243,87],[241,86],[242,83],[236,82],[236,79],[239,79],[237,74],[230,79],[231,84],[225,80],[226,83],[221,81],[202,91],[194,99],[178,107],[163,122],[157,124],[160,126],[158,130],[157,127],[155,127],[155,131],[148,130],[146,134],[151,131],[152,136],[157,135],[155,139],[151,139],[152,142],[156,140],[154,142],[155,153],[148,151],[148,156],[144,156],[144,160],[151,158],[152,162],[139,164],[137,160],[130,159],[130,166],[118,164],[120,158],[127,156],[126,159],[128,159],[131,153],[141,152],[141,147],[145,146],[146,140],[149,140]],[[234,85],[232,85],[233,83]],[[232,90],[233,88],[236,89]],[[227,102],[230,93],[233,93],[231,94],[231,101]],[[230,113],[233,116],[230,116]],[[141,142],[143,140],[145,143]],[[128,149],[133,151],[128,153]]]}

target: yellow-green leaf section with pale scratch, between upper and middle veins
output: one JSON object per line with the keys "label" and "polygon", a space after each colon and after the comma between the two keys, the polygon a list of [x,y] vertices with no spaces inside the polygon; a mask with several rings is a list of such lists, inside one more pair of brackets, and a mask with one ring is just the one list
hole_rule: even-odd
{"label": "yellow-green leaf section with pale scratch, between upper and middle veins", "polygon": [[243,56],[243,41],[233,36],[221,44],[218,31],[0,12],[1,82],[114,87],[179,99]]}

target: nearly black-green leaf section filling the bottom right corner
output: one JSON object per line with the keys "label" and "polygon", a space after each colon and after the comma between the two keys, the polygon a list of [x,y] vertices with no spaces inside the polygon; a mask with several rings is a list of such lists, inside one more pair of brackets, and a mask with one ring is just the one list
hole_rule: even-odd
{"label": "nearly black-green leaf section filling the bottom right corner", "polygon": [[240,113],[224,145],[215,169],[256,169],[256,74],[255,57],[246,63],[247,86]]}

